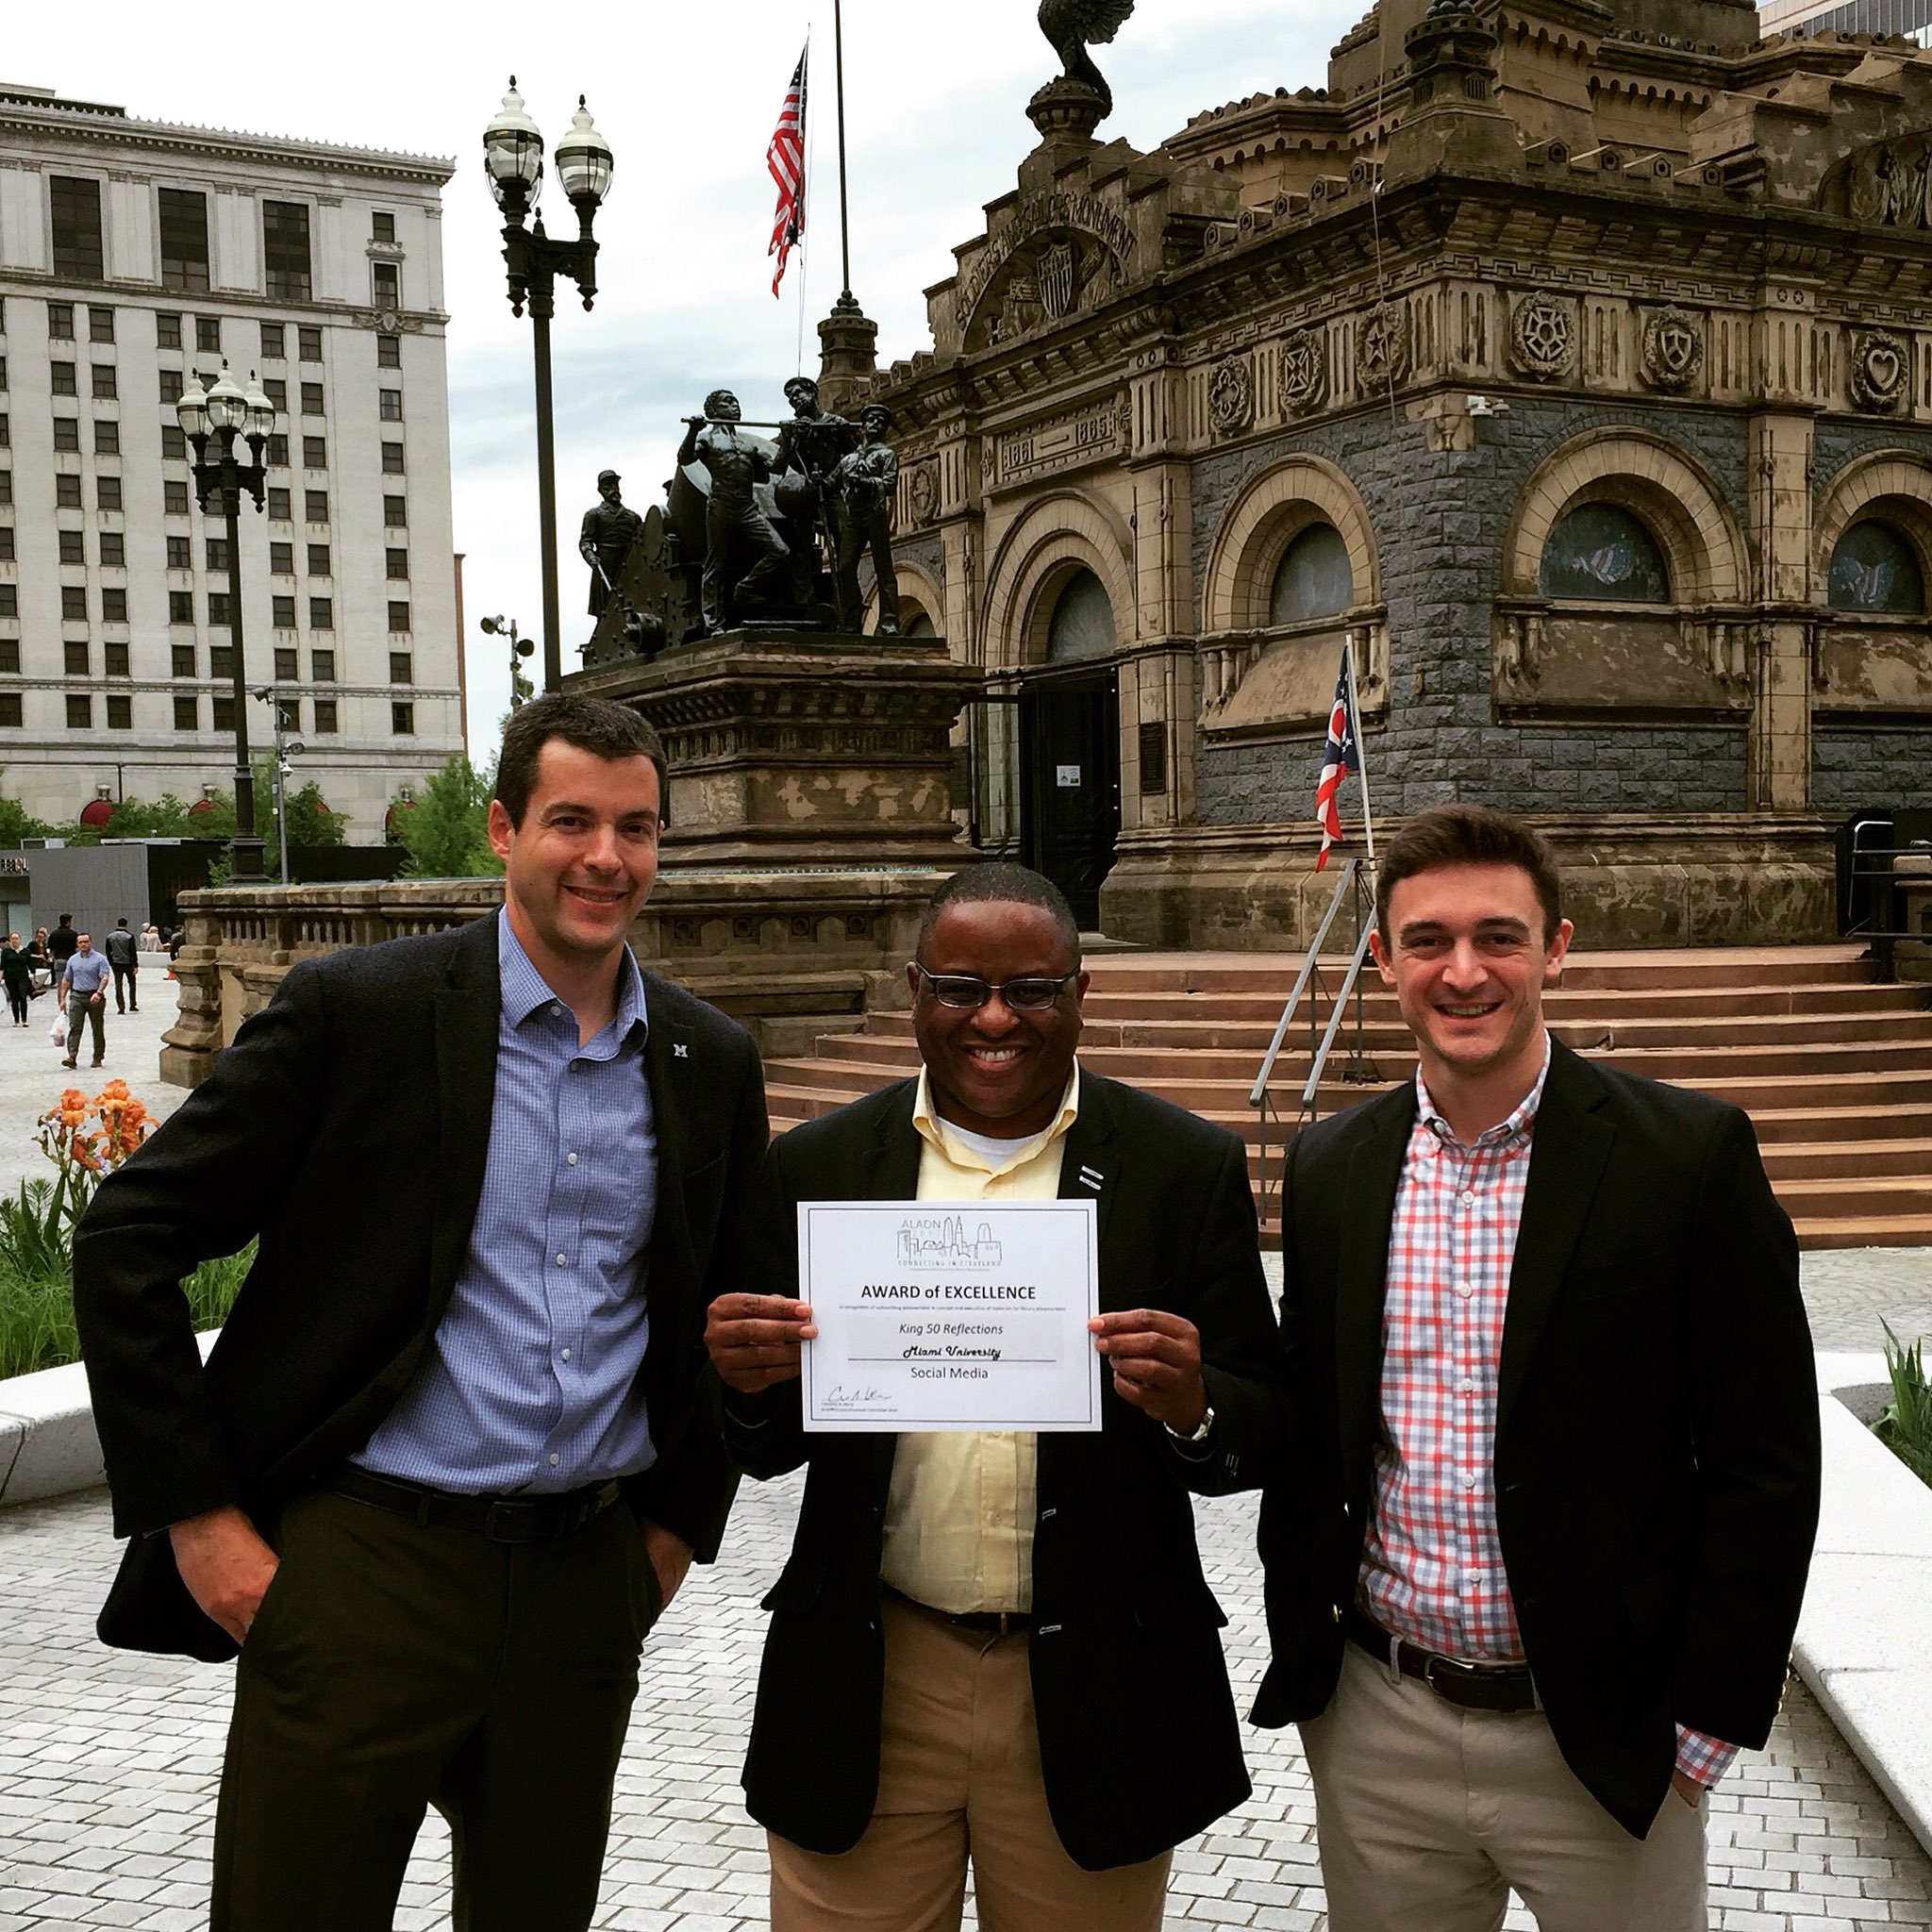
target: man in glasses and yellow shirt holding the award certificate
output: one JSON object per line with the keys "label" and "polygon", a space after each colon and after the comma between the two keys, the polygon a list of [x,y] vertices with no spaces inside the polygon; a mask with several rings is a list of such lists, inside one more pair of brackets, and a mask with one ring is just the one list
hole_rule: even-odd
{"label": "man in glasses and yellow shirt holding the award certificate", "polygon": [[[1190,1495],[1283,1426],[1242,1142],[1074,1066],[1080,933],[1037,873],[941,891],[908,968],[923,1072],[767,1159],[765,1294],[713,1306],[726,1439],[808,1466],[744,1783],[775,1932],[1151,1932],[1169,1851],[1248,1795]],[[796,1208],[1095,1200],[1097,1434],[804,1434]]]}

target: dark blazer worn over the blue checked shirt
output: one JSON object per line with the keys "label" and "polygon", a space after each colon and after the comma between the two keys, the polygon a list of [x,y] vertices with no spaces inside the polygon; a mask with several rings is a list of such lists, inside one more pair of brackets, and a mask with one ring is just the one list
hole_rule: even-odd
{"label": "dark blazer worn over the blue checked shirt", "polygon": [[[736,1474],[697,1420],[703,1310],[740,1271],[765,1090],[732,1020],[653,974],[645,1001],[657,1223],[639,1374],[659,1459],[632,1503],[709,1559]],[[100,1186],[73,1308],[114,1526],[133,1538],[102,1640],[232,1656],[153,1532],[226,1503],[272,1519],[408,1387],[483,1190],[498,1010],[495,916],[307,960]],[[203,1370],[178,1283],[249,1236],[255,1264]]]}

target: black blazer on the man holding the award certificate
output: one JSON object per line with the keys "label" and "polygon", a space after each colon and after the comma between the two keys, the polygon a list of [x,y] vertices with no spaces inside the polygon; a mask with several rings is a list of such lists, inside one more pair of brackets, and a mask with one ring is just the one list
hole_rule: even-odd
{"label": "black blazer on the man holding the award certificate", "polygon": [[[802,1200],[912,1200],[914,1082],[796,1126],[759,1188],[763,1293],[798,1289]],[[1097,1188],[1082,1173],[1099,1177]],[[1202,1577],[1190,1492],[1260,1482],[1283,1428],[1277,1337],[1242,1144],[1094,1074],[1066,1136],[1061,1198],[1097,1196],[1105,1308],[1167,1308],[1202,1333],[1215,1453],[1190,1463],[1103,1378],[1094,1435],[1039,1437],[1032,1683],[1053,1826],[1088,1870],[1167,1851],[1248,1795]],[[757,1476],[808,1464],[744,1768],[752,1816],[810,1851],[858,1843],[879,1793],[881,1520],[896,1435],[806,1435],[800,1389],[726,1441]]]}

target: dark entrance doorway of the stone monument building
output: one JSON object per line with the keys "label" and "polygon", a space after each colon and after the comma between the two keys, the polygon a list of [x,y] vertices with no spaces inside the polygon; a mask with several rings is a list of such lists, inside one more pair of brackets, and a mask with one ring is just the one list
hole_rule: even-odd
{"label": "dark entrance doorway of the stone monument building", "polygon": [[1028,682],[1020,699],[1022,846],[1099,929],[1099,887],[1121,838],[1121,688],[1099,676]]}

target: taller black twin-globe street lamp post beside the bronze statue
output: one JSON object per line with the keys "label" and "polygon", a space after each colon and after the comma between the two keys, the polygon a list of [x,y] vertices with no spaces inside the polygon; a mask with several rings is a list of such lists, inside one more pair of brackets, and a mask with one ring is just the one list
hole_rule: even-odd
{"label": "taller black twin-globe street lamp post beside the bronze statue", "polygon": [[551,421],[551,317],[556,313],[556,276],[578,284],[583,307],[597,299],[597,242],[591,222],[611,193],[611,143],[591,126],[578,95],[570,133],[556,143],[556,174],[570,205],[578,211],[576,242],[556,242],[543,232],[543,216],[531,228],[524,216],[543,191],[543,135],[524,112],[524,97],[510,75],[502,106],[483,129],[483,164],[491,193],[502,209],[502,261],[510,270],[510,311],[529,309],[537,350],[537,514],[543,520],[543,688],[554,692],[564,682],[562,622],[556,605],[556,433]]}

